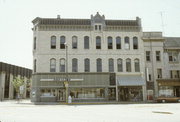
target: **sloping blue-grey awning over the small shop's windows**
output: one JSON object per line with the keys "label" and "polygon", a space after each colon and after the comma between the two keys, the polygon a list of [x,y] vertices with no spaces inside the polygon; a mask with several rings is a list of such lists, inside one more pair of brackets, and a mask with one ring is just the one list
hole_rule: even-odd
{"label": "sloping blue-grey awning over the small shop's windows", "polygon": [[140,75],[117,76],[118,86],[143,86],[145,80]]}

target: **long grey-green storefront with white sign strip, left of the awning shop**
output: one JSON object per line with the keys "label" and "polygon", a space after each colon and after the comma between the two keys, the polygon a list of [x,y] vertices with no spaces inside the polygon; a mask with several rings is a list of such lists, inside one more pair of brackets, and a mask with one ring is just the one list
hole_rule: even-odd
{"label": "long grey-green storefront with white sign strip, left of the awning shop", "polygon": [[31,97],[32,102],[65,102],[66,93],[72,101],[109,101],[116,100],[114,73],[71,73],[68,87],[64,74],[35,74]]}

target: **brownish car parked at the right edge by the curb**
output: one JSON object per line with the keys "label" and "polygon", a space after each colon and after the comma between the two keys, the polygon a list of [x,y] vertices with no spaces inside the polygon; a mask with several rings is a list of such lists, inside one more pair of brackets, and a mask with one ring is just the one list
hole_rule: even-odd
{"label": "brownish car parked at the right edge by the curb", "polygon": [[161,103],[180,102],[180,97],[158,97],[156,100]]}

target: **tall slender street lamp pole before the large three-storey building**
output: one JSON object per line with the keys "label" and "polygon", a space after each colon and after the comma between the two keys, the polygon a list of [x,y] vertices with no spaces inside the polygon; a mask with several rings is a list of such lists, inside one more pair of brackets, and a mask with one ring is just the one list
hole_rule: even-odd
{"label": "tall slender street lamp pole before the large three-storey building", "polygon": [[69,94],[69,82],[68,82],[68,45],[65,42],[65,49],[66,49],[66,81],[64,82],[65,88],[66,88],[66,103],[68,103],[68,94]]}

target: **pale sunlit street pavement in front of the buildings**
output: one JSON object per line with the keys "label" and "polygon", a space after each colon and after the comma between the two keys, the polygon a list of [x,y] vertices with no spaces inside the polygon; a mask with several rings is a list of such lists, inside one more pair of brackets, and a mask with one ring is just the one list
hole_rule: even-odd
{"label": "pale sunlit street pavement in front of the buildings", "polygon": [[34,105],[0,102],[0,122],[180,122],[180,103]]}

